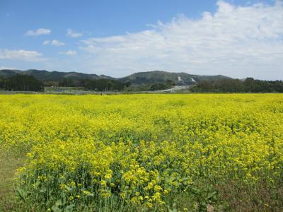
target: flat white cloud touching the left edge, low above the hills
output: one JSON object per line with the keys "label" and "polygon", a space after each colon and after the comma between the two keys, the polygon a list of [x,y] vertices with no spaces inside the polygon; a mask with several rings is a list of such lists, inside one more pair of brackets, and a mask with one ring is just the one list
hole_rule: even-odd
{"label": "flat white cloud touching the left edge, low above the hills", "polygon": [[13,59],[23,61],[46,61],[42,54],[36,51],[0,49],[0,59]]}

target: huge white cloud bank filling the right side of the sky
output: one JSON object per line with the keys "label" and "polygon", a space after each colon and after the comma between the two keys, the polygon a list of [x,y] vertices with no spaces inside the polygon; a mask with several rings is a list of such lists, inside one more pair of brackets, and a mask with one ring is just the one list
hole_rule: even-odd
{"label": "huge white cloud bank filling the right side of the sky", "polygon": [[166,70],[283,79],[282,1],[217,6],[197,20],[179,16],[139,33],[82,40],[84,63],[114,76]]}

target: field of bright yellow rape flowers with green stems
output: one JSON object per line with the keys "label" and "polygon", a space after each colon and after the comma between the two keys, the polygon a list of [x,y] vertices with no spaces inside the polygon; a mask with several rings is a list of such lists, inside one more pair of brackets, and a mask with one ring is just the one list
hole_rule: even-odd
{"label": "field of bright yellow rape flowers with green stems", "polygon": [[0,111],[0,211],[283,211],[282,94],[0,95]]}

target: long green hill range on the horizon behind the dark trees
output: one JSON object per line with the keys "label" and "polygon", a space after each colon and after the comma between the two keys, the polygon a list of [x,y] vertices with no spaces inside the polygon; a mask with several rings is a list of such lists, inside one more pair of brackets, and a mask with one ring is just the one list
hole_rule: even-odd
{"label": "long green hill range on the horizon behind the dark trees", "polygon": [[111,76],[88,74],[88,73],[45,71],[45,70],[36,70],[36,69],[30,69],[27,71],[20,71],[13,69],[0,70],[0,76],[3,76],[5,78],[14,76],[16,74],[34,76],[40,81],[62,81],[64,78],[73,79],[73,80],[106,78],[106,79],[114,79],[122,82],[129,81],[130,83],[136,85],[150,84],[150,83],[164,83],[166,81],[173,81],[176,85],[190,85],[204,80],[211,81],[221,78],[229,78],[228,76],[222,76],[222,75],[200,76],[200,75],[192,75],[184,72],[172,73],[167,71],[138,72],[122,78],[113,78]]}

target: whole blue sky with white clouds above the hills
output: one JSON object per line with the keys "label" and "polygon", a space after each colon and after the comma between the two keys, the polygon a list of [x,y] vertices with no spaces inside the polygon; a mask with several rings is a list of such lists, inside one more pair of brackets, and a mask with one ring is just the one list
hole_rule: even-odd
{"label": "whole blue sky with white clouds above the hills", "polygon": [[283,79],[282,1],[0,1],[0,69]]}

